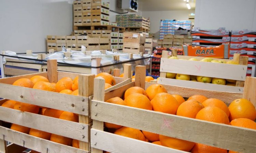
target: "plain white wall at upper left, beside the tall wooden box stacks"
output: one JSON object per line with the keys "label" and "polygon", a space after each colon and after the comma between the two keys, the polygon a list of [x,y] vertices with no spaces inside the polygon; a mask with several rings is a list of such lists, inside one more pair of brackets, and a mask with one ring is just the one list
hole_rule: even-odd
{"label": "plain white wall at upper left, beside the tall wooden box stacks", "polygon": [[70,35],[72,1],[0,0],[0,50],[46,51],[46,35]]}

